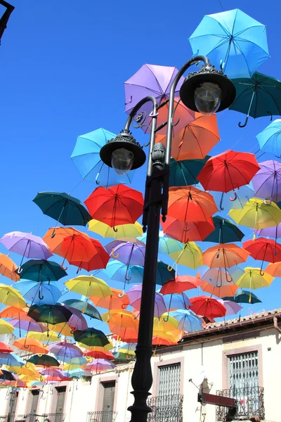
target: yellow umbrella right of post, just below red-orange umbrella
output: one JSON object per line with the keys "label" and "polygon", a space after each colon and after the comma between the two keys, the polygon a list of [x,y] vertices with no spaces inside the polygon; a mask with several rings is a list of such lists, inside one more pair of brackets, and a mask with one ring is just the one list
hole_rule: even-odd
{"label": "yellow umbrella right of post, just below red-orange umbrella", "polygon": [[169,253],[169,256],[175,261],[172,267],[168,267],[169,271],[171,271],[176,264],[185,265],[185,267],[193,269],[203,265],[202,250],[194,242],[185,243],[182,250],[171,252]]}

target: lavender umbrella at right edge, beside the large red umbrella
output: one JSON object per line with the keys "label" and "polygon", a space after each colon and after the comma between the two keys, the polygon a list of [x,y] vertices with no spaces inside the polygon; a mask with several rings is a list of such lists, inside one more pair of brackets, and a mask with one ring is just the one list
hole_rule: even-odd
{"label": "lavender umbrella at right edge, beside the large red umbrella", "polygon": [[[281,200],[281,163],[275,160],[259,162],[261,170],[257,172],[251,182],[255,196],[279,202]],[[270,203],[269,202],[269,203]]]}

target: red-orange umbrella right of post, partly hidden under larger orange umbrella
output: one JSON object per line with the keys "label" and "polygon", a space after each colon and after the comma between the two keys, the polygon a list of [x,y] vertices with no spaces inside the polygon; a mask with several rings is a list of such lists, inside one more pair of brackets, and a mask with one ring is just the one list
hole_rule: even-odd
{"label": "red-orange umbrella right of post, partly hidden under larger orange umbrella", "polygon": [[187,243],[188,241],[204,241],[214,231],[212,217],[206,222],[181,222],[181,220],[167,215],[166,221],[161,222],[161,224],[167,236],[171,236],[183,243]]}

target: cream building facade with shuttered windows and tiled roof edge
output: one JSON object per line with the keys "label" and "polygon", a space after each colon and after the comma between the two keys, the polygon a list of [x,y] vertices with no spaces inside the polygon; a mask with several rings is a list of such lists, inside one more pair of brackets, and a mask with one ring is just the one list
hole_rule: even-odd
{"label": "cream building facade with shuttered windows and tiled roof edge", "polygon": [[[178,345],[157,348],[149,421],[255,417],[281,422],[280,342],[281,309],[276,309],[207,324],[202,331],[187,333]],[[91,382],[44,385],[40,390],[1,388],[0,422],[129,422],[132,371],[129,360],[113,371],[93,374]],[[198,393],[234,398],[236,414],[229,407],[199,402]]]}

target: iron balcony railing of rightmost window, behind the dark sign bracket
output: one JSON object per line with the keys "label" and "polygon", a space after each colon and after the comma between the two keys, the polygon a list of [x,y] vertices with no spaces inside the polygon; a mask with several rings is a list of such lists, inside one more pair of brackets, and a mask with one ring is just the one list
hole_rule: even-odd
{"label": "iron balcony railing of rightmost window, behind the dark sign bracket", "polygon": [[[217,390],[216,394],[237,400],[237,410],[236,414],[233,416],[233,421],[247,421],[253,416],[259,416],[262,421],[265,418],[262,387]],[[224,421],[228,415],[228,411],[229,409],[227,407],[217,406],[216,421]]]}

